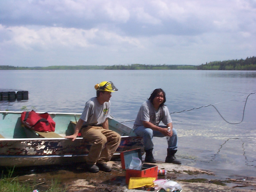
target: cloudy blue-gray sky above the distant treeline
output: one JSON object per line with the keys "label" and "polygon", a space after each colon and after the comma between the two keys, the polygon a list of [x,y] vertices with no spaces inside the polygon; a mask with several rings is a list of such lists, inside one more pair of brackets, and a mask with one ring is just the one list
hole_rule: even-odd
{"label": "cloudy blue-gray sky above the distant treeline", "polygon": [[0,65],[200,65],[256,56],[256,0],[0,0]]}

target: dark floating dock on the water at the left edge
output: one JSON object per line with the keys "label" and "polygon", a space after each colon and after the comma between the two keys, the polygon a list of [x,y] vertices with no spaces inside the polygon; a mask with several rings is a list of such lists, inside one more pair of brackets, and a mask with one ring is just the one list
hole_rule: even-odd
{"label": "dark floating dock on the water at the left edge", "polygon": [[28,91],[0,89],[0,101],[28,100]]}

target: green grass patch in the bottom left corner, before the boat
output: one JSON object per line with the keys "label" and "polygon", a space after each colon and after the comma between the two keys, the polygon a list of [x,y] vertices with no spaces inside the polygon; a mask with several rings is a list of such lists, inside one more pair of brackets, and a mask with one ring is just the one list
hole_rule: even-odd
{"label": "green grass patch in the bottom left corner, before the boat", "polygon": [[0,180],[0,191],[1,192],[32,192],[35,189],[38,191],[46,192],[65,192],[66,188],[61,186],[59,178],[51,180],[50,185],[37,184],[36,180],[19,181],[18,177],[12,177],[14,173],[14,167],[8,170],[8,174]]}

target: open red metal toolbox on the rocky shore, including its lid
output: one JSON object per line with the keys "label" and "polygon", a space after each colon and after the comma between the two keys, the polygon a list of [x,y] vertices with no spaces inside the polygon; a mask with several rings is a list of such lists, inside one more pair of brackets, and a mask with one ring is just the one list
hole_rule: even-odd
{"label": "open red metal toolbox on the rocky shore, including its lid", "polygon": [[129,169],[130,164],[133,160],[133,157],[140,158],[140,160],[142,161],[141,149],[124,151],[124,152],[121,152],[120,154],[122,169],[126,170],[126,177],[125,177],[126,184],[129,183],[130,177],[155,177],[157,179],[157,175],[158,175],[157,165],[143,163],[141,170]]}

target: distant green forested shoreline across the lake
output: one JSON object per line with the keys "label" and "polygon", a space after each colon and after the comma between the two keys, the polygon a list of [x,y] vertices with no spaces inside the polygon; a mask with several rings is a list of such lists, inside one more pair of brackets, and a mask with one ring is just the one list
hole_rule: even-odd
{"label": "distant green forested shoreline across the lake", "polygon": [[49,67],[14,67],[8,65],[0,65],[0,70],[256,70],[256,57],[247,57],[246,59],[213,61],[201,65],[78,65],[78,66],[49,66]]}

